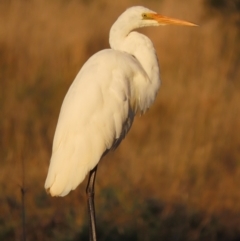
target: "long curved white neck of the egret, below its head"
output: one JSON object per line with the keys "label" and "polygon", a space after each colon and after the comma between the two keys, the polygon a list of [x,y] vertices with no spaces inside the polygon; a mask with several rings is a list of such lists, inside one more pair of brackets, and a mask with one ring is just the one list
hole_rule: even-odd
{"label": "long curved white neck of the egret, below its head", "polygon": [[160,73],[153,43],[145,35],[131,30],[126,25],[121,26],[121,22],[115,22],[110,30],[110,46],[112,49],[135,56],[149,77],[151,83],[148,86],[149,92],[156,92],[153,93],[155,96],[160,87]]}

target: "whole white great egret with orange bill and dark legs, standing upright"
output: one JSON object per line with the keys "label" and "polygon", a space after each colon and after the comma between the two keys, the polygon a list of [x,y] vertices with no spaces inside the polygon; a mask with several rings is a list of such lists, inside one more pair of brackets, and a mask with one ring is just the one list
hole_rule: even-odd
{"label": "whole white great egret with orange bill and dark legs, standing upright", "polygon": [[83,65],[63,101],[45,188],[52,196],[65,196],[90,172],[86,191],[92,240],[96,240],[93,189],[98,162],[120,144],[135,114],[152,105],[160,87],[153,44],[133,30],[167,24],[195,26],[145,7],[127,9],[111,27],[111,49],[94,54]]}

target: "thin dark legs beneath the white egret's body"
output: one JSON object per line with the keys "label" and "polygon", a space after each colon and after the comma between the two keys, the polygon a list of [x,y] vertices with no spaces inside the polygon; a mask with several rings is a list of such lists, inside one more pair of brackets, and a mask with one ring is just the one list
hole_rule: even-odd
{"label": "thin dark legs beneath the white egret's body", "polygon": [[88,212],[90,217],[90,227],[89,235],[90,241],[97,241],[96,234],[96,217],[95,217],[95,207],[94,207],[94,183],[97,174],[97,166],[94,167],[89,174],[88,184],[86,188],[87,199],[88,199]]}

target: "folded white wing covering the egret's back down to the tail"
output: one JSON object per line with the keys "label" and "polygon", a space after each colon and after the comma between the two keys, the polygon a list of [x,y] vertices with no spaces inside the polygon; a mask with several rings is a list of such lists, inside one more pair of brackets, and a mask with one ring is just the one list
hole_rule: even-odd
{"label": "folded white wing covering the egret's back down to the tail", "polygon": [[119,51],[104,50],[86,62],[61,107],[45,182],[52,196],[74,190],[103,153],[119,145],[137,111],[132,80],[144,75]]}

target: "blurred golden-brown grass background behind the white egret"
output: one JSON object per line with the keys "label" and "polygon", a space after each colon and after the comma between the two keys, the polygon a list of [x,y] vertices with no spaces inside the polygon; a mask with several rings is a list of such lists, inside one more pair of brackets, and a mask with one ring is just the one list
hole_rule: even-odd
{"label": "blurred golden-brown grass background behind the white egret", "polygon": [[[240,240],[238,0],[0,1],[0,240],[86,240],[86,180],[65,198],[43,188],[59,109],[112,23],[143,5],[198,28],[140,30],[162,86],[98,170],[99,240]],[[24,168],[23,168],[24,167]]]}

